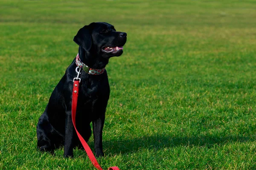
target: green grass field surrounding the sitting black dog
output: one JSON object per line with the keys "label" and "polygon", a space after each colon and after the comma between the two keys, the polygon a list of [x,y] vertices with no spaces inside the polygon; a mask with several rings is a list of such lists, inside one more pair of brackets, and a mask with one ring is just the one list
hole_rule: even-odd
{"label": "green grass field surrounding the sitting black dog", "polygon": [[128,34],[106,67],[103,169],[256,169],[255,0],[0,0],[0,169],[93,169],[38,152],[36,124],[100,21]]}

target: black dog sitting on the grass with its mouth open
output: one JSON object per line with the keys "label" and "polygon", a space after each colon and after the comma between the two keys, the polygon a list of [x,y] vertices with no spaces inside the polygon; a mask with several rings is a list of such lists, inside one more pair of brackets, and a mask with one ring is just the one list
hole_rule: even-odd
{"label": "black dog sitting on the grass with its mouth open", "polygon": [[122,54],[126,36],[125,32],[117,32],[108,23],[91,23],[78,31],[74,41],[79,45],[79,56],[67,68],[38,120],[40,150],[53,152],[64,144],[64,157],[72,157],[73,147],[82,147],[71,118],[73,79],[77,76],[77,64],[82,62],[85,67],[82,67],[80,74],[76,126],[84,140],[88,141],[91,136],[90,122],[93,122],[95,153],[96,156],[103,156],[102,129],[110,93],[105,66],[109,58]]}

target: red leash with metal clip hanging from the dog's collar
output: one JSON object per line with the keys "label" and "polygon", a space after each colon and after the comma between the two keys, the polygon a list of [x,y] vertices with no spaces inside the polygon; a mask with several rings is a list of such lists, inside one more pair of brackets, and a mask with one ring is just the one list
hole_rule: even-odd
{"label": "red leash with metal clip hanging from the dog's collar", "polygon": [[[79,71],[79,73],[80,73],[80,71]],[[80,81],[77,81],[77,80],[75,81],[75,79],[74,79],[73,95],[72,95],[72,122],[73,122],[73,125],[74,125],[75,129],[76,129],[76,106],[77,106],[77,97],[78,97],[79,82]],[[97,162],[95,156],[93,155],[92,150],[90,149],[88,144],[85,142],[84,138],[77,131],[77,129],[76,129],[76,133],[77,133],[77,136],[79,137],[79,140],[82,143],[82,145],[84,147],[84,150],[86,151],[90,161],[93,163],[94,167],[96,167],[98,170],[102,170],[102,167],[100,167],[99,163]],[[119,168],[118,167],[110,167],[108,170],[119,170]]]}

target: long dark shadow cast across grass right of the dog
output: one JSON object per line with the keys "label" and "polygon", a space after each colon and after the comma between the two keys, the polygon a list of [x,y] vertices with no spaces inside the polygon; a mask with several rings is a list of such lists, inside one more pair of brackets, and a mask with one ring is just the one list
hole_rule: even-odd
{"label": "long dark shadow cast across grass right of the dog", "polygon": [[146,136],[130,140],[103,141],[106,153],[131,153],[142,148],[161,149],[177,146],[204,146],[213,147],[215,144],[224,145],[235,142],[254,142],[256,139],[244,136],[192,136],[192,137],[167,137],[167,136]]}

